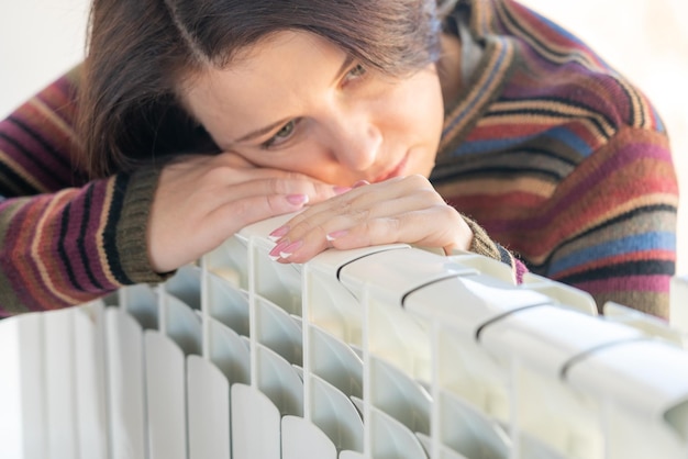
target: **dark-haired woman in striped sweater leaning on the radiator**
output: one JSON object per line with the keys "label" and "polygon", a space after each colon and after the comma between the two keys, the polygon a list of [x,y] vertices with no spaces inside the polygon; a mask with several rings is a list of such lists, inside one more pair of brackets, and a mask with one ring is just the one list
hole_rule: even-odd
{"label": "dark-haired woman in striped sweater leaning on the radiator", "polygon": [[509,247],[599,306],[668,312],[657,114],[510,0],[96,0],[84,66],[1,131],[5,314],[160,281],[304,208],[279,262],[404,242],[518,279]]}

